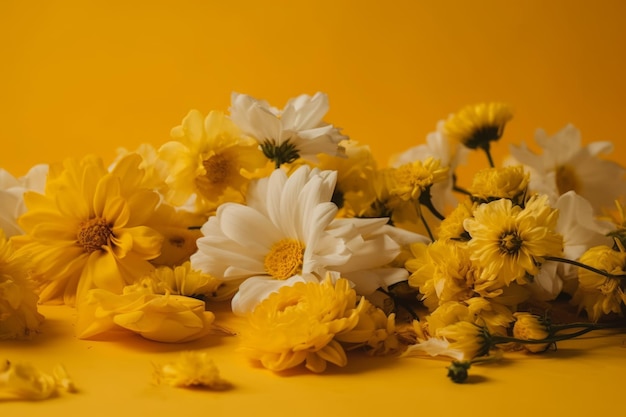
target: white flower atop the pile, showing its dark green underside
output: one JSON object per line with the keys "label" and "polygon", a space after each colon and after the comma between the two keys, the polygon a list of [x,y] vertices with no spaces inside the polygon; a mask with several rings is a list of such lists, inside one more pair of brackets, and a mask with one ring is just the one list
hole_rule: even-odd
{"label": "white flower atop the pile, showing its dark green underside", "polygon": [[277,166],[298,157],[317,162],[316,155],[336,155],[339,142],[347,139],[339,129],[325,123],[328,97],[323,93],[290,99],[283,110],[246,94],[233,93],[230,117]]}

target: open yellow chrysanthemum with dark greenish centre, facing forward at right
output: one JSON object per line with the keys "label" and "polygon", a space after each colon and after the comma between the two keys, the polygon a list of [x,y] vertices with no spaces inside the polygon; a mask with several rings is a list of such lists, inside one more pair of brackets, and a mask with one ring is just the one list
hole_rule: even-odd
{"label": "open yellow chrysanthemum with dark greenish centre, facing forward at right", "polygon": [[525,208],[508,199],[482,204],[464,222],[471,257],[494,279],[523,284],[527,274],[539,272],[543,257],[561,255],[557,219],[545,196],[531,198]]}

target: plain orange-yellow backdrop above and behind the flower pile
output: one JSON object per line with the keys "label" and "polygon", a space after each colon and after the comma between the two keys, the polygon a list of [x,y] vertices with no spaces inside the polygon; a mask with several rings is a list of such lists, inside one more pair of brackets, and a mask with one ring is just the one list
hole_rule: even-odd
{"label": "plain orange-yellow backdrop above and behind the flower pile", "polygon": [[159,146],[231,91],[324,91],[381,164],[487,100],[514,107],[508,142],[573,123],[626,154],[625,41],[619,0],[3,0],[0,167]]}

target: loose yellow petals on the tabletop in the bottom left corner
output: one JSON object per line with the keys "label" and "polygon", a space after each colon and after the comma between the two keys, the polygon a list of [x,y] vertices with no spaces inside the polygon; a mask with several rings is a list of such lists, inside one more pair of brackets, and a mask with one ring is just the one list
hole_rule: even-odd
{"label": "loose yellow petals on the tabletop in the bottom left corner", "polygon": [[62,365],[57,365],[52,373],[47,373],[26,362],[5,360],[0,363],[0,401],[41,401],[55,397],[59,391],[76,391]]}

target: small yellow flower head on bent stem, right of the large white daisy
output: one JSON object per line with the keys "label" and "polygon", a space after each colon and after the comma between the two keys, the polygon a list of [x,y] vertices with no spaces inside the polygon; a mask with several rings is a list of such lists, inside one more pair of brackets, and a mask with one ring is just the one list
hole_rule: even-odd
{"label": "small yellow flower head on bent stem, right of the large white daisy", "polygon": [[402,201],[419,201],[420,195],[430,186],[448,179],[448,167],[432,157],[415,161],[393,170],[389,193]]}

